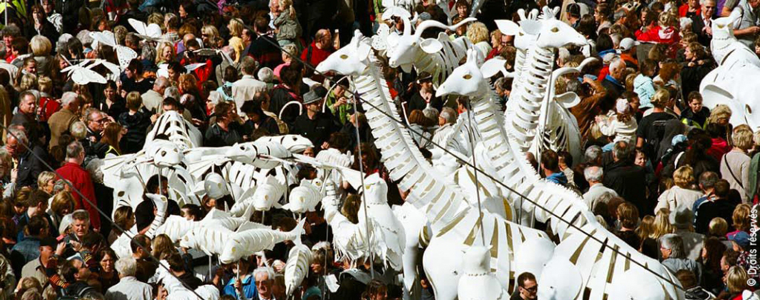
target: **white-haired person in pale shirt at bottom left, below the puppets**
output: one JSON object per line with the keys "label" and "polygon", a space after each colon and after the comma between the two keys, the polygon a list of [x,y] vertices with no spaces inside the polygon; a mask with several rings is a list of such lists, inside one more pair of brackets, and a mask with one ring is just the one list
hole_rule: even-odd
{"label": "white-haired person in pale shirt at bottom left, below the puppets", "polygon": [[135,278],[137,261],[132,257],[120,258],[114,264],[119,272],[119,283],[106,291],[106,300],[150,300],[153,299],[153,288]]}

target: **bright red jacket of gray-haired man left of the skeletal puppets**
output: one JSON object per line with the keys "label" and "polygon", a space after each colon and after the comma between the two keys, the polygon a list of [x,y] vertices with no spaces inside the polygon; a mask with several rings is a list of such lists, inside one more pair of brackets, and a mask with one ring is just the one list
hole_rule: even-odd
{"label": "bright red jacket of gray-haired man left of the skeletal puppets", "polygon": [[79,190],[82,195],[92,202],[92,204],[90,204],[90,202],[82,200],[77,192],[71,193],[74,196],[74,202],[76,204],[75,209],[86,210],[90,214],[90,224],[92,224],[92,228],[100,230],[100,214],[96,209],[98,206],[98,200],[95,199],[95,186],[92,184],[90,173],[83,169],[82,166],[70,162],[64,164],[63,167],[60,167],[56,172],[61,174],[63,179],[71,182],[75,189]]}

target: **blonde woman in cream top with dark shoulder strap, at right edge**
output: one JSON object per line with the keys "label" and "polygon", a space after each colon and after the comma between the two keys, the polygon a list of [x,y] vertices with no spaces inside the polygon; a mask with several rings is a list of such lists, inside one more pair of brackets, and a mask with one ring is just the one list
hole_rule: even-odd
{"label": "blonde woman in cream top with dark shoulder strap, at right edge", "polygon": [[747,155],[754,144],[752,135],[752,129],[747,125],[734,128],[731,134],[733,148],[720,160],[720,173],[723,179],[728,181],[732,189],[739,191],[742,203],[749,203],[752,198],[749,193],[751,158]]}

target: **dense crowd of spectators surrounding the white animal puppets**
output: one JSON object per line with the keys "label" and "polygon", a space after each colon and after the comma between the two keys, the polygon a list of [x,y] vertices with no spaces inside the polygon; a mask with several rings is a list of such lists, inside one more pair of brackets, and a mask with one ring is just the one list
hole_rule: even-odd
{"label": "dense crowd of spectators surrounding the white animal puppets", "polygon": [[[367,174],[380,174],[391,187],[389,203],[403,203],[406,191],[390,181],[367,118],[354,109],[361,99],[348,81],[314,70],[351,40],[354,29],[372,36],[386,22],[390,31],[403,33],[399,17],[382,18],[380,1],[8,3],[0,31],[0,299],[166,299],[155,280],[159,260],[188,287],[212,285],[222,299],[287,298],[283,261],[292,242],[267,252],[268,261],[252,256],[215,267],[167,236],[144,235],[155,217],[149,198],[134,211],[114,211],[113,190],[99,171],[102,159],[140,151],[167,111],[196,126],[206,147],[300,134],[314,145],[305,155],[361,149],[352,167],[363,164]],[[513,71],[514,36],[496,29],[494,20],[519,21],[520,9],[546,5],[561,7],[556,17],[588,41],[557,49],[553,65],[597,60],[553,87],[557,95],[575,92],[581,98],[570,112],[580,128],[582,160],[547,150],[530,157],[537,171],[581,196],[626,243],[662,261],[688,290],[687,299],[742,299],[743,290],[757,288],[748,282],[758,279],[752,234],[760,131],[729,124],[732,112],[725,105],[704,107],[699,83],[716,67],[709,45],[719,17],[741,11],[734,35],[760,54],[760,0],[485,1],[478,21],[450,32],[433,28],[423,37],[443,32],[452,40],[468,39],[483,57],[500,57]],[[418,24],[458,24],[473,9],[467,0],[422,0],[410,7]],[[132,19],[156,24],[161,36],[145,36]],[[90,35],[106,30],[138,57],[120,61],[123,51]],[[64,71],[91,59],[123,71],[108,77],[106,68],[93,68],[110,78],[105,84],[77,84]],[[455,134],[452,127],[467,116],[469,99],[436,97],[431,74],[381,63],[405,125],[430,155]],[[493,79],[502,108],[510,105],[512,80]],[[306,166],[301,171],[299,178],[315,173]],[[165,192],[159,182],[166,180],[151,178],[146,191]],[[341,213],[357,222],[361,199],[345,189]],[[170,206],[169,213],[200,220],[223,208],[216,200]],[[290,216],[275,209],[253,218],[289,231],[296,225]],[[322,213],[305,217],[305,243],[321,247],[313,250],[310,275],[296,299],[400,299],[400,284],[387,276],[392,272],[374,268],[378,273],[370,274],[372,262],[366,260],[335,261]],[[132,238],[133,255],[117,257],[109,245],[132,226],[140,233]],[[213,268],[196,274],[200,266]],[[535,299],[536,278],[516,275],[512,299]],[[329,288],[330,276],[340,288]],[[422,298],[433,299],[424,276],[419,284]]]}

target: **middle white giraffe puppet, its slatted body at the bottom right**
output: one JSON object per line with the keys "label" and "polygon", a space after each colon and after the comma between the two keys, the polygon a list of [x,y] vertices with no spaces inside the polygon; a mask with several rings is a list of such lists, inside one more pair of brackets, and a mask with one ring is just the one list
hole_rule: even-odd
{"label": "middle white giraffe puppet, its slatted body at the bottom right", "polygon": [[[557,23],[556,25],[570,28],[564,23]],[[553,31],[552,29],[549,28],[550,31]],[[563,30],[558,30],[558,32],[561,31]],[[575,31],[571,30],[564,33],[565,38],[574,38],[570,36],[570,33],[575,33]],[[556,42],[562,42],[562,38],[553,37],[553,39]],[[493,75],[496,73],[494,69],[498,69],[494,66],[498,66],[498,63],[486,64],[482,68],[478,68],[475,63],[474,52],[474,50],[470,50],[467,63],[454,71],[452,76],[439,87],[438,93],[452,93],[470,97],[478,127],[484,136],[484,142],[490,150],[489,153],[494,154],[490,164],[497,168],[499,175],[507,185],[516,191],[527,194],[538,205],[561,216],[566,222],[574,222],[575,226],[598,238],[606,245],[603,246],[597,240],[591,239],[589,235],[568,227],[569,224],[566,222],[555,217],[549,218],[547,225],[549,229],[558,234],[560,243],[552,254],[552,264],[547,265],[541,274],[572,273],[580,280],[575,281],[576,284],[572,288],[558,292],[557,287],[563,284],[564,277],[549,275],[547,279],[542,279],[543,281],[539,286],[539,295],[545,296],[542,299],[605,299],[613,292],[613,287],[616,284],[621,284],[621,280],[628,281],[625,274],[638,270],[643,271],[637,274],[643,274],[641,276],[644,279],[656,281],[657,288],[651,289],[643,297],[635,299],[683,299],[683,292],[671,283],[676,282],[675,277],[666,271],[661,264],[639,253],[604,229],[577,195],[538,177],[536,171],[525,160],[524,153],[520,152],[520,148],[511,144],[515,139],[503,129],[495,126],[494,120],[497,114],[493,103],[495,97],[483,73]],[[539,221],[546,220],[547,212],[539,213],[539,208],[532,210]],[[620,254],[616,251],[619,251]],[[648,271],[632,261],[644,264]],[[552,265],[558,265],[561,268],[551,267]],[[658,276],[662,276],[671,282]],[[582,291],[588,295],[584,295]]]}

